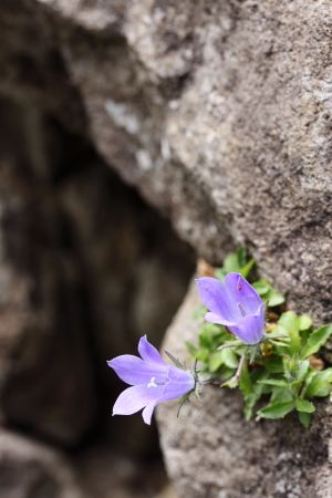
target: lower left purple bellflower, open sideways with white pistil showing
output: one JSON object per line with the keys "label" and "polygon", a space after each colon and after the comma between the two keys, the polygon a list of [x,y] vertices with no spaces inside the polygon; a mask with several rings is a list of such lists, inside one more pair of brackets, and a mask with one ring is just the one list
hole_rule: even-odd
{"label": "lower left purple bellflower, open sideways with white pistil showing", "polygon": [[107,362],[122,381],[132,385],[116,400],[113,415],[132,415],[144,408],[143,419],[149,425],[156,405],[191,392],[195,377],[165,363],[146,335],[139,340],[138,353],[143,360],[124,354]]}

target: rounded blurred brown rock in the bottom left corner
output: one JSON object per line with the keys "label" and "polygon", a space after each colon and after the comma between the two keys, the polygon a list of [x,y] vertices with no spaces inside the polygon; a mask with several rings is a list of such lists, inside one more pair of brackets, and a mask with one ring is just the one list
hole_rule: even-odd
{"label": "rounded blurred brown rock in the bottom left corner", "polygon": [[0,496],[6,498],[86,498],[61,454],[2,429],[0,467]]}

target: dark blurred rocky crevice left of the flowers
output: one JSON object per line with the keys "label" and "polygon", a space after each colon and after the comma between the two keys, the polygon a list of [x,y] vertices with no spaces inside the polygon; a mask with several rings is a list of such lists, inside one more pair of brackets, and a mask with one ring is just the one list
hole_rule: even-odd
{"label": "dark blurred rocky crevice left of the flowers", "polygon": [[4,97],[0,242],[0,496],[156,496],[156,427],[112,417],[106,360],[160,344],[193,250],[86,137]]}

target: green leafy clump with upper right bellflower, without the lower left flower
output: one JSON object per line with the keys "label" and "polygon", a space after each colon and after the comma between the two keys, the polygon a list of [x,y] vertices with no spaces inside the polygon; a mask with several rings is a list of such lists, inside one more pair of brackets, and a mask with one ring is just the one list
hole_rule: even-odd
{"label": "green leafy clump with upper right bellflower, without the lower left flower", "polygon": [[310,317],[287,310],[284,298],[266,280],[250,286],[245,277],[252,266],[240,248],[214,271],[215,278],[198,279],[207,307],[197,309],[194,319],[205,315],[207,322],[200,326],[198,346],[187,347],[210,383],[224,380],[221,387],[241,390],[247,419],[266,395],[269,404],[256,413],[258,418],[282,418],[295,409],[309,427],[314,398],[331,397],[332,369],[319,353],[332,325],[313,330]]}

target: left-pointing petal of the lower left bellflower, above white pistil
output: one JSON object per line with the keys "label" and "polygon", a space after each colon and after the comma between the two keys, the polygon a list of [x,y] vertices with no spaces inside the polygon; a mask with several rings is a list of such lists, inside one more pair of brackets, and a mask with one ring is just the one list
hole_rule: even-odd
{"label": "left-pointing petal of the lower left bellflower, above white pistil", "polygon": [[152,365],[132,354],[116,356],[107,364],[117,373],[122,381],[131,385],[144,384],[147,386],[153,377],[155,377],[154,382],[156,384],[165,384],[166,382],[166,364],[154,363]]}

